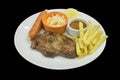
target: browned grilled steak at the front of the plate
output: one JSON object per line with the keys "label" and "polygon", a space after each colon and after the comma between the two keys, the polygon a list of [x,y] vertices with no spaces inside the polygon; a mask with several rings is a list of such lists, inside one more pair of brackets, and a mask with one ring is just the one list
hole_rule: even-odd
{"label": "browned grilled steak at the front of the plate", "polygon": [[67,36],[53,32],[44,32],[38,35],[32,41],[31,48],[40,51],[46,57],[76,57],[75,42]]}

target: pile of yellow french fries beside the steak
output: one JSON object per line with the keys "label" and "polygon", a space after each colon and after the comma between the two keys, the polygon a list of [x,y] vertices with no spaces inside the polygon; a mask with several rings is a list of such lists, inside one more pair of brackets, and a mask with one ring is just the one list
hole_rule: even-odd
{"label": "pile of yellow french fries beside the steak", "polygon": [[76,53],[79,58],[92,54],[108,38],[99,28],[99,25],[92,26],[89,20],[87,29],[84,30],[83,23],[79,22],[80,37],[72,37],[76,42]]}

